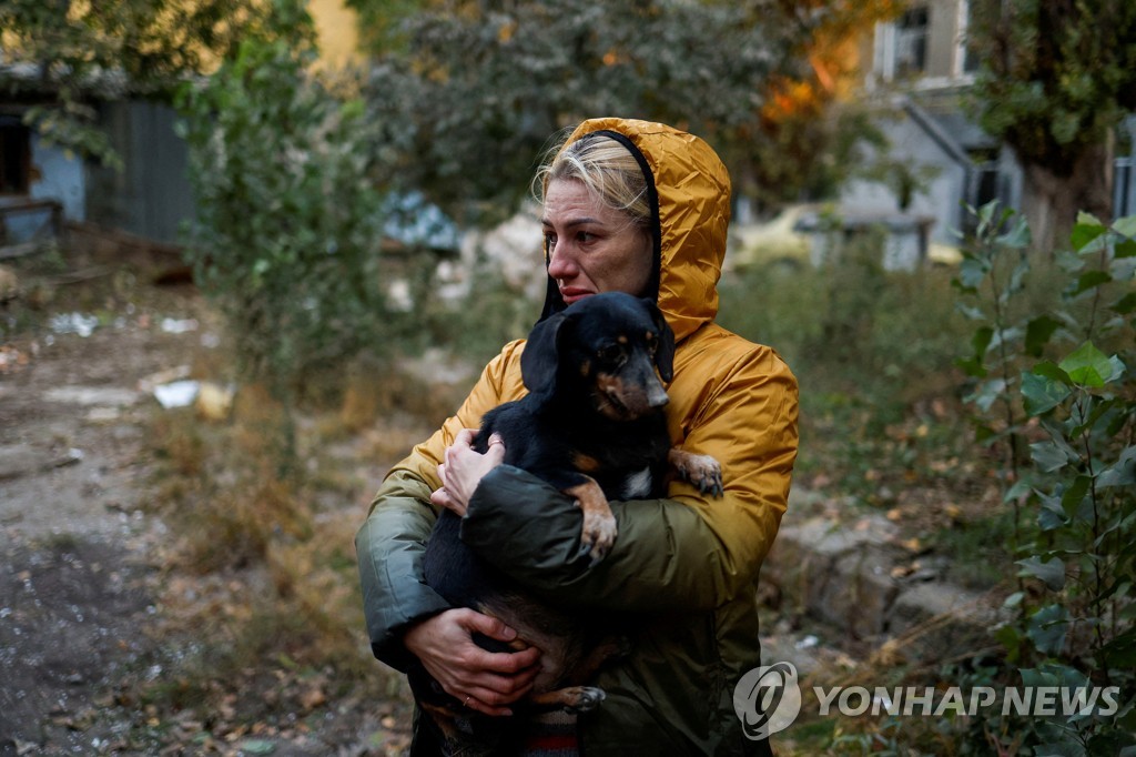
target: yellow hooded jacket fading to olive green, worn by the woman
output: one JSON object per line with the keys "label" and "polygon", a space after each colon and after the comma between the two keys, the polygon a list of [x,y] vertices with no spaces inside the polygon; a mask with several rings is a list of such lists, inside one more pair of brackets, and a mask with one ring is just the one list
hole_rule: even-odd
{"label": "yellow hooded jacket fading to olive green, worn by the woman", "polygon": [[[630,655],[595,681],[608,698],[580,716],[590,756],[747,754],[733,692],[761,664],[758,571],[788,497],[796,380],[772,349],[713,323],[729,222],[729,176],[713,150],[662,124],[618,118],[585,122],[568,142],[596,131],[632,148],[653,180],[658,303],[677,341],[668,427],[676,447],[721,463],[725,494],[674,481],[666,499],[615,504],[619,536],[590,567],[571,501],[500,466],[470,500],[462,540],[553,601],[641,614]],[[545,314],[562,308],[550,282]],[[457,415],[392,468],[356,539],[371,646],[399,669],[410,663],[407,627],[449,608],[421,571],[437,464],[461,429],[524,396],[523,350],[524,341],[507,344]]]}

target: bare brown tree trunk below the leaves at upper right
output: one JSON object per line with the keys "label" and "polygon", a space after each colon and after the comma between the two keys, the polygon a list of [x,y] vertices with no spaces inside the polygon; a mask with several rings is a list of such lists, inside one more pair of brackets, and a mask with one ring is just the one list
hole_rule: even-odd
{"label": "bare brown tree trunk below the leaves at upper right", "polygon": [[1067,176],[1045,166],[1027,165],[1025,180],[1021,209],[1029,222],[1036,251],[1068,249],[1069,233],[1079,210],[1104,223],[1112,221],[1111,140],[1085,150]]}

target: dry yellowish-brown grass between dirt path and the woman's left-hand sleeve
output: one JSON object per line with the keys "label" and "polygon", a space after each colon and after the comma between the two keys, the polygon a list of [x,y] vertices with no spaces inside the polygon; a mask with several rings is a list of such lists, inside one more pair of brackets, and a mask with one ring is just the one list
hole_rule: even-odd
{"label": "dry yellowish-brown grass between dirt path and the woman's left-hand sleeve", "polygon": [[[367,646],[352,542],[386,466],[457,401],[390,364],[365,364],[291,408],[248,386],[225,422],[156,411],[156,510],[176,542],[167,569],[182,576],[164,600],[168,648],[189,652],[140,700],[231,712],[215,735],[348,700],[406,707],[401,677]],[[243,693],[254,691],[277,693]]]}

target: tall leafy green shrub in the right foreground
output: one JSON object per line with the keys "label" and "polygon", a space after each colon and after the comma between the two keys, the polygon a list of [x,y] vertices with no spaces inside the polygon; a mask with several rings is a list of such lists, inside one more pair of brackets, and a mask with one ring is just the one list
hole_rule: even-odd
{"label": "tall leafy green shrub in the right foreground", "polygon": [[1081,214],[1071,251],[1053,258],[1059,301],[1028,307],[1039,260],[1025,223],[995,205],[978,215],[958,286],[980,325],[960,365],[978,439],[1002,450],[1020,568],[1016,618],[997,638],[1027,685],[1121,692],[1118,713],[1051,718],[1027,747],[1117,754],[1136,743],[1136,217],[1106,226]]}

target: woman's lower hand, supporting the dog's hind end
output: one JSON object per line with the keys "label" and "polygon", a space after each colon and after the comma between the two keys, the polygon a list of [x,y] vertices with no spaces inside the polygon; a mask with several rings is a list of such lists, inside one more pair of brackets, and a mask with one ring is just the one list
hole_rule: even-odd
{"label": "woman's lower hand, supporting the dog's hind end", "polygon": [[504,642],[517,638],[517,632],[501,621],[459,608],[415,625],[407,631],[404,643],[445,692],[466,707],[486,715],[511,715],[509,705],[533,688],[541,651],[536,647],[516,652],[486,651],[474,643],[475,632]]}

